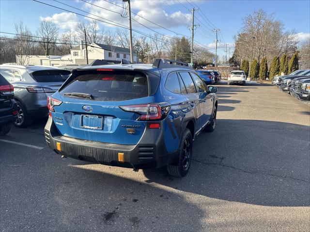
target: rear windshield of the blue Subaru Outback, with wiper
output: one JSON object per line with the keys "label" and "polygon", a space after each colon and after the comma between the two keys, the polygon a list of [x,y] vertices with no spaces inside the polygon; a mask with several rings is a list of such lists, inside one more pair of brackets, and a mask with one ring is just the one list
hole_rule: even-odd
{"label": "rear windshield of the blue Subaru Outback, with wiper", "polygon": [[[135,71],[77,71],[61,91],[65,93],[86,93],[95,101],[126,101],[147,97],[146,75]],[[68,96],[68,95],[67,95]]]}

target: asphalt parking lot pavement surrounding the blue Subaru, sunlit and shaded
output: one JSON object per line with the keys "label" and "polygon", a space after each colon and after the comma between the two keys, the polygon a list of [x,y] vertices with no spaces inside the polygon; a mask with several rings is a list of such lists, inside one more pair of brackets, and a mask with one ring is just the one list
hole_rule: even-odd
{"label": "asphalt parking lot pavement surrounding the blue Subaru, sunlit and shaded", "polygon": [[61,158],[46,120],[13,128],[0,138],[0,230],[309,231],[310,105],[269,85],[218,85],[218,97],[216,131],[195,140],[182,179]]}

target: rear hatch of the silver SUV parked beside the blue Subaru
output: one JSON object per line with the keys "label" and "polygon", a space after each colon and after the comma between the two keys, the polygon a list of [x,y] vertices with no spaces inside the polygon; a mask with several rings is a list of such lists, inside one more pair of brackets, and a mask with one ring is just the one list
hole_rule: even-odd
{"label": "rear hatch of the silver SUV parked beside the blue Subaru", "polygon": [[40,70],[31,73],[32,78],[37,82],[36,86],[43,88],[43,91],[48,96],[55,93],[70,76],[68,70]]}

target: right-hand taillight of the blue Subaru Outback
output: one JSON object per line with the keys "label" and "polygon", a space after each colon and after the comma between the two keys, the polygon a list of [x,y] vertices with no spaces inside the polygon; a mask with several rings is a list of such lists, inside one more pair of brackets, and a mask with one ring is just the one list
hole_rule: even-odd
{"label": "right-hand taillight of the blue Subaru Outback", "polygon": [[165,118],[170,111],[169,105],[161,106],[154,103],[122,105],[119,107],[126,112],[139,114],[138,120],[160,120]]}

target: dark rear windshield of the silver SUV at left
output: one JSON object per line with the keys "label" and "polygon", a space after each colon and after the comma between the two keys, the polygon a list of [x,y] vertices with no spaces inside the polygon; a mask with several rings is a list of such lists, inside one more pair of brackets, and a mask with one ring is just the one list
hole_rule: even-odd
{"label": "dark rear windshield of the silver SUV at left", "polygon": [[70,75],[68,70],[42,70],[31,73],[36,82],[64,82]]}

